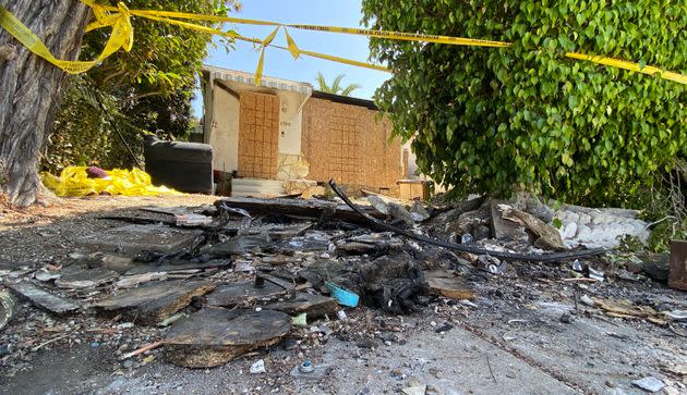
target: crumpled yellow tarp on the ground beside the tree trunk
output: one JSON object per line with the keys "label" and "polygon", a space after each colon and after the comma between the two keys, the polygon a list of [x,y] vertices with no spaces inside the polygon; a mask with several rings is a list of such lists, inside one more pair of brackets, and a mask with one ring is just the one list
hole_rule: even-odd
{"label": "crumpled yellow tarp on the ground beside the tree trunk", "polygon": [[60,176],[40,173],[43,185],[57,196],[87,196],[87,195],[124,195],[124,196],[157,196],[181,195],[181,193],[165,186],[154,186],[150,175],[141,169],[108,170],[107,178],[88,178],[87,166],[69,166],[62,170]]}

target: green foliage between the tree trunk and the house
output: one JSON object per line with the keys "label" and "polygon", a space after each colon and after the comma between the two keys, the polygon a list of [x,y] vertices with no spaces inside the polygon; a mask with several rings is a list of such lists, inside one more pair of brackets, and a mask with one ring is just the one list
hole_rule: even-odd
{"label": "green foliage between the tree trunk and the house", "polygon": [[[117,1],[109,1],[114,5]],[[240,8],[234,0],[126,0],[130,9],[226,15]],[[198,21],[196,23],[218,27]],[[59,173],[67,165],[106,169],[136,165],[116,129],[143,163],[146,133],[184,138],[190,131],[191,100],[208,45],[230,50],[232,42],[212,41],[197,30],[132,17],[130,52],[114,52],[85,75],[71,78],[40,168]],[[84,35],[81,59],[97,57],[109,37],[101,28]]]}

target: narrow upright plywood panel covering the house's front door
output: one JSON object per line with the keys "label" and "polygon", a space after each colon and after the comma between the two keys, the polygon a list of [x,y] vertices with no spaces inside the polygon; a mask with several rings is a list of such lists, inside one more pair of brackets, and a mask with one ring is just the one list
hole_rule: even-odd
{"label": "narrow upright plywood panel covering the house's front door", "polygon": [[242,91],[239,113],[239,176],[276,178],[279,98]]}

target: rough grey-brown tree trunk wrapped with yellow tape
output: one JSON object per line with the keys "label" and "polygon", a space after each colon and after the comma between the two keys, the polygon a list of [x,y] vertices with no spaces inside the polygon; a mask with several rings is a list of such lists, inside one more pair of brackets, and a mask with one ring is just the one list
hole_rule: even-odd
{"label": "rough grey-brown tree trunk wrapped with yellow tape", "polygon": [[[89,9],[80,0],[0,0],[58,59],[75,60]],[[28,206],[40,186],[37,165],[68,74],[0,28],[0,195]]]}

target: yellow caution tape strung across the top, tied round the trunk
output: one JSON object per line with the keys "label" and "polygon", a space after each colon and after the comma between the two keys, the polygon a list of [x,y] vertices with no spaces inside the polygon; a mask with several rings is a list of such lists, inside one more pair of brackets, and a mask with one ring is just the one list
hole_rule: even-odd
{"label": "yellow caution tape strung across the top, tied round the trunk", "polygon": [[[473,38],[462,38],[462,37],[450,37],[450,36],[438,36],[438,35],[426,35],[421,33],[403,33],[403,32],[387,32],[387,30],[374,30],[366,28],[350,28],[350,27],[339,27],[339,26],[322,26],[322,25],[296,25],[296,24],[281,24],[278,22],[272,21],[261,21],[261,20],[250,20],[250,18],[240,18],[240,17],[230,17],[230,16],[217,16],[217,15],[202,15],[202,14],[191,14],[185,12],[176,12],[176,11],[161,11],[161,10],[129,10],[123,3],[119,3],[118,7],[112,5],[103,5],[96,4],[94,0],[82,0],[85,4],[91,7],[94,10],[94,14],[96,16],[96,22],[88,25],[87,30],[112,26],[112,34],[103,50],[103,53],[95,60],[89,62],[84,61],[63,61],[56,59],[52,53],[48,50],[48,48],[40,41],[40,39],[34,35],[21,21],[16,20],[14,15],[9,13],[4,8],[0,5],[0,26],[5,28],[12,36],[14,36],[20,42],[22,42],[26,48],[28,48],[32,52],[37,55],[46,59],[50,63],[57,65],[58,67],[67,71],[68,73],[83,73],[98,62],[103,61],[105,58],[112,54],[119,48],[124,48],[125,50],[131,49],[131,45],[133,42],[133,28],[131,27],[130,16],[141,16],[155,21],[167,22],[171,24],[176,24],[179,26],[183,26],[186,28],[194,28],[197,30],[229,36],[236,39],[250,41],[254,44],[258,44],[261,46],[261,54],[257,63],[257,70],[255,72],[255,82],[260,84],[260,79],[262,76],[263,65],[264,65],[264,57],[265,57],[265,48],[268,46],[286,49],[291,52],[293,58],[298,59],[299,55],[305,54],[314,58],[325,59],[329,61],[351,64],[361,67],[369,67],[374,70],[388,71],[387,67],[370,64],[365,62],[359,62],[350,59],[328,55],[324,53],[306,51],[298,48],[293,38],[286,30],[287,27],[305,29],[305,30],[315,30],[315,32],[329,32],[329,33],[338,33],[338,34],[350,34],[350,35],[361,35],[366,37],[375,37],[375,38],[385,38],[385,39],[394,39],[394,40],[407,40],[407,41],[420,41],[420,42],[435,42],[435,44],[447,44],[447,45],[458,45],[458,46],[475,46],[475,47],[495,47],[495,48],[508,48],[511,46],[510,42],[505,41],[492,41],[492,40],[482,40],[482,39],[473,39]],[[114,13],[109,13],[114,12]],[[264,40],[258,40],[249,37],[242,37],[232,33],[225,33],[219,29],[214,29],[210,27],[206,27],[203,25],[192,24],[183,21],[178,21],[174,18],[184,18],[184,20],[193,20],[193,21],[205,21],[205,22],[228,22],[236,24],[249,24],[249,25],[263,25],[263,26],[276,26],[275,30],[267,36]],[[287,37],[288,48],[284,48],[280,46],[272,45],[277,32],[282,27],[285,29],[285,34]],[[659,74],[664,79],[670,79],[679,84],[687,84],[687,76],[664,71],[660,67],[655,66],[640,66],[638,63],[599,57],[599,55],[589,55],[577,52],[568,52],[565,54],[567,58],[589,61],[596,64],[624,69],[632,72],[643,73],[643,74]]]}

